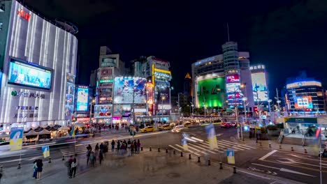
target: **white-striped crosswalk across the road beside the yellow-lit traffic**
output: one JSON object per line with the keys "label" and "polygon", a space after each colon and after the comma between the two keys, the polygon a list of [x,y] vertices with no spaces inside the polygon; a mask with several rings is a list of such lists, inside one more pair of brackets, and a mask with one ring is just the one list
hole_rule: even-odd
{"label": "white-striped crosswalk across the road beside the yellow-lit traffic", "polygon": [[253,146],[247,146],[245,144],[238,144],[233,141],[227,141],[224,139],[217,140],[216,149],[210,149],[210,144],[208,141],[189,141],[187,143],[187,151],[184,151],[184,147],[181,144],[168,145],[170,148],[173,148],[175,151],[191,153],[197,156],[211,154],[224,153],[227,149],[233,149],[235,152],[238,151],[247,151],[250,149],[256,149]]}

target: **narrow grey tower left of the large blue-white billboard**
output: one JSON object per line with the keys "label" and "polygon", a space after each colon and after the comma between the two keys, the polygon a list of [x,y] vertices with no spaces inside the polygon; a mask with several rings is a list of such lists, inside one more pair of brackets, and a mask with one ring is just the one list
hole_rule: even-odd
{"label": "narrow grey tower left of the large blue-white billboard", "polygon": [[119,54],[111,54],[111,50],[100,47],[99,68],[96,71],[96,98],[93,109],[97,123],[112,123],[112,103],[114,95],[114,79],[124,76],[125,65]]}

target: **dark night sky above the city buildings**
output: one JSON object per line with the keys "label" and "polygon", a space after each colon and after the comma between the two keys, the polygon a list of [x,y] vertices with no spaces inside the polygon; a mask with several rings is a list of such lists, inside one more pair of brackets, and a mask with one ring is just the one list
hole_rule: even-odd
{"label": "dark night sky above the city buildings", "polygon": [[50,20],[61,17],[78,26],[79,84],[89,84],[90,69],[99,67],[99,47],[107,45],[125,62],[138,56],[170,61],[173,86],[181,92],[178,84],[191,72],[191,63],[222,53],[226,22],[239,51],[250,52],[252,64],[266,65],[270,91],[303,69],[327,84],[326,0],[24,3]]}

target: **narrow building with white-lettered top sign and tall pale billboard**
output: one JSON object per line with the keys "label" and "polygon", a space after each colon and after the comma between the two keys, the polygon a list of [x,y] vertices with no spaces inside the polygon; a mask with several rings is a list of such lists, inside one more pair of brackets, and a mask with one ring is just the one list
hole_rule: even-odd
{"label": "narrow building with white-lettered top sign and tall pale billboard", "polygon": [[258,110],[268,111],[267,107],[269,100],[269,90],[267,83],[267,72],[266,66],[258,64],[251,66],[249,68],[251,70],[251,79],[252,79],[252,91],[253,95],[247,95],[248,97],[252,97],[255,102],[255,106],[258,107]]}

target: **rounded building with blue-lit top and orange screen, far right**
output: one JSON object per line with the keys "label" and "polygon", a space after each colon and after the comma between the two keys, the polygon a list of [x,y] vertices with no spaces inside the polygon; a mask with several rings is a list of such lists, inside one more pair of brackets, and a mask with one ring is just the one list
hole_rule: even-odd
{"label": "rounded building with blue-lit top and orange screen, far right", "polygon": [[318,80],[301,71],[298,77],[286,79],[284,91],[289,115],[326,114],[324,88]]}

